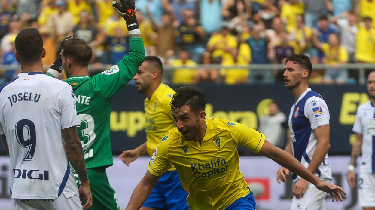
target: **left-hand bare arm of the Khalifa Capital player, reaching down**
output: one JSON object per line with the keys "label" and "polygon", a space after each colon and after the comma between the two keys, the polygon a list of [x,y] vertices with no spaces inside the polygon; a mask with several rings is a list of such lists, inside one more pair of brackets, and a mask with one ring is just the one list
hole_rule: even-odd
{"label": "left-hand bare arm of the Khalifa Capital player, reaching down", "polygon": [[154,188],[159,178],[160,176],[155,176],[147,171],[142,180],[135,187],[125,210],[139,210],[150,195],[151,190]]}

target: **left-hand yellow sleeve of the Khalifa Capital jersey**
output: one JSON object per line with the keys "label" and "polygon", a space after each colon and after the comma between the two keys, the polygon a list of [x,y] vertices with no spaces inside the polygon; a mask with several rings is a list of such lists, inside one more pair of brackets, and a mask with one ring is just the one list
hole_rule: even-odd
{"label": "left-hand yellow sleeve of the Khalifa Capital jersey", "polygon": [[156,146],[154,153],[148,163],[148,171],[155,176],[160,176],[166,172],[170,165],[168,160],[168,146],[169,146],[169,132],[163,137],[163,139]]}

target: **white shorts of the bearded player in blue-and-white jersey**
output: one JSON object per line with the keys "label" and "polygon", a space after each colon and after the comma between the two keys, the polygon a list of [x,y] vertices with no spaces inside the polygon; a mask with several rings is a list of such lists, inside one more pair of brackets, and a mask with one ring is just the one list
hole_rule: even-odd
{"label": "white shorts of the bearded player in blue-and-white jersey", "polygon": [[[329,179],[322,179],[324,182],[330,183]],[[295,184],[295,181],[293,184]],[[309,184],[308,189],[306,189],[305,194],[302,198],[297,199],[296,196],[293,196],[292,205],[290,210],[325,210],[325,201],[324,199],[328,193],[318,190],[314,184]]]}

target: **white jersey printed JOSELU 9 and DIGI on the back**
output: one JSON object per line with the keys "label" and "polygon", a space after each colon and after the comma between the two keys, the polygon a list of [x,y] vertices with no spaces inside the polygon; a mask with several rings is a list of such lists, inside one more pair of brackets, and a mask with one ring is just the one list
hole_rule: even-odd
{"label": "white jersey printed JOSELU 9 and DIGI on the back", "polygon": [[62,129],[78,125],[71,86],[20,73],[0,88],[0,134],[9,147],[12,198],[67,198],[78,192]]}

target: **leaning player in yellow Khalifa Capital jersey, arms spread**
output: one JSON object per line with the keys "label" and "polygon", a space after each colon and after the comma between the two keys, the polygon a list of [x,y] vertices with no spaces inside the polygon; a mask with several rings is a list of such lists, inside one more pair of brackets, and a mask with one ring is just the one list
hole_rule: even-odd
{"label": "leaning player in yellow Khalifa Capital jersey, arms spread", "polygon": [[269,157],[342,201],[339,186],[325,183],[289,153],[266,141],[264,134],[227,119],[205,118],[206,95],[195,86],[179,88],[171,100],[176,128],[157,145],[148,171],[136,186],[127,210],[138,210],[160,175],[172,163],[190,210],[254,210],[255,199],[239,170],[237,146]]}

